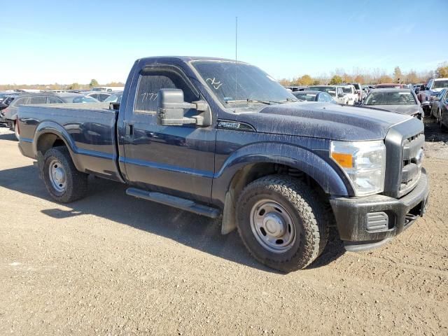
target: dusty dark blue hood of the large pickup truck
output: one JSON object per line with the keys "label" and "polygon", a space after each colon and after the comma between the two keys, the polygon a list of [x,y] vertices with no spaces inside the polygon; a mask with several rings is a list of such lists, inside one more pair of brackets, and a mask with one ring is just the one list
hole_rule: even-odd
{"label": "dusty dark blue hood of the large pickup truck", "polygon": [[298,102],[266,106],[255,113],[240,113],[235,119],[252,125],[257,132],[365,141],[384,139],[391,126],[412,117],[365,107]]}

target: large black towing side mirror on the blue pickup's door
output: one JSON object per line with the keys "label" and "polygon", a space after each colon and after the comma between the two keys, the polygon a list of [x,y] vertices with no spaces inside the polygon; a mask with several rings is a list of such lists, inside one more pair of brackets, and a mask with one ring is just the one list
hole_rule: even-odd
{"label": "large black towing side mirror on the blue pickup's door", "polygon": [[[198,125],[208,127],[211,125],[211,110],[209,104],[202,100],[188,103],[183,101],[183,91],[179,89],[161,89],[157,98],[157,122],[164,126]],[[186,111],[196,110],[197,116],[188,118]]]}

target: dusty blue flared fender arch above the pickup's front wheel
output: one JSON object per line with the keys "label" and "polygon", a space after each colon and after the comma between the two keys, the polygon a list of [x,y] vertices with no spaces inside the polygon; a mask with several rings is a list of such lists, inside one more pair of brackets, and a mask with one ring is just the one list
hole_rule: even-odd
{"label": "dusty blue flared fender arch above the pickup's front wheel", "polygon": [[[214,175],[212,200],[223,207],[225,194],[240,169],[255,163],[287,165],[311,176],[330,195],[349,195],[343,175],[316,153],[300,146],[277,143],[258,143],[239,148]],[[347,183],[349,184],[349,183]]]}

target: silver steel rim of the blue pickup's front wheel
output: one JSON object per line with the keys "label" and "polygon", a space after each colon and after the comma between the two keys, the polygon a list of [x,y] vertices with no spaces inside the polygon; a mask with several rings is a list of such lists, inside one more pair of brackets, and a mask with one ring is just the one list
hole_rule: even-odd
{"label": "silver steel rim of the blue pickup's front wheel", "polygon": [[285,253],[295,243],[293,218],[278,202],[260,200],[251,209],[252,233],[263,248]]}

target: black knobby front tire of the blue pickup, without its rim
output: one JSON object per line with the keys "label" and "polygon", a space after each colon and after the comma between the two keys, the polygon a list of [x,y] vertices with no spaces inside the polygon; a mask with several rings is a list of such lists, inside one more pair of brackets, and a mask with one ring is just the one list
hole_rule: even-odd
{"label": "black knobby front tire of the blue pickup, without its rim", "polygon": [[[256,204],[263,200],[280,204],[292,218],[297,233],[287,251],[269,251],[256,237],[251,218]],[[284,175],[265,176],[248,184],[237,204],[237,228],[244,245],[256,260],[281,272],[307,267],[322,253],[328,241],[329,216],[332,214],[314,190],[302,181]]]}

